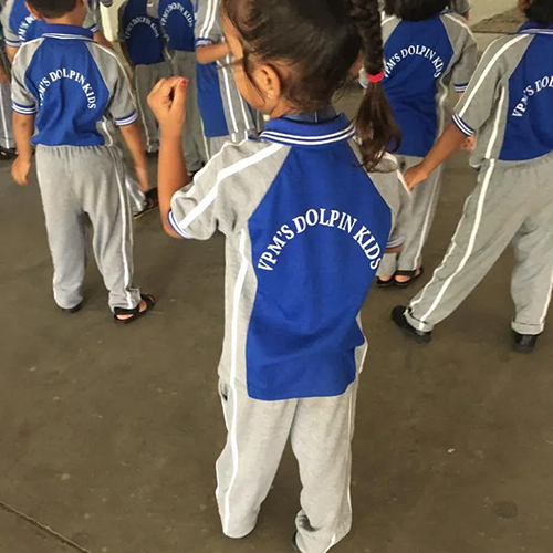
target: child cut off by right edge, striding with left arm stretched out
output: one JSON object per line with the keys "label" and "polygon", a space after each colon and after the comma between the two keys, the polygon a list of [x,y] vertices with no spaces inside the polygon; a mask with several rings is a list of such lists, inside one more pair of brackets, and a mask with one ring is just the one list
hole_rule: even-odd
{"label": "child cut off by right edge, striding with left arm stretched out", "polygon": [[530,353],[543,332],[553,284],[553,4],[521,0],[528,23],[494,42],[456,108],[453,124],[407,171],[427,178],[477,133],[478,187],[431,282],[394,321],[418,342],[469,295],[510,242],[515,268],[514,348]]}

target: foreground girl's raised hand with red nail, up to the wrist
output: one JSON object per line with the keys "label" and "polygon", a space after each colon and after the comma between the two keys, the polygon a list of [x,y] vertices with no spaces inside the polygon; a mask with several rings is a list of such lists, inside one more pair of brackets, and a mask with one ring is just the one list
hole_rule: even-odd
{"label": "foreground girl's raised hand with red nail, up to the wrist", "polygon": [[186,118],[188,80],[180,76],[161,79],[148,96],[148,105],[161,133],[181,135]]}

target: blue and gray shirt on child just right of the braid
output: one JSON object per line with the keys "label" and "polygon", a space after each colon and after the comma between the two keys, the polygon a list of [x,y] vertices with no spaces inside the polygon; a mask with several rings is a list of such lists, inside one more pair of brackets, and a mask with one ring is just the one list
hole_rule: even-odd
{"label": "blue and gray shirt on child just right of the braid", "polygon": [[477,66],[477,43],[460,15],[426,21],[387,18],[384,88],[401,129],[398,154],[425,157],[445,124],[451,80],[463,92]]}

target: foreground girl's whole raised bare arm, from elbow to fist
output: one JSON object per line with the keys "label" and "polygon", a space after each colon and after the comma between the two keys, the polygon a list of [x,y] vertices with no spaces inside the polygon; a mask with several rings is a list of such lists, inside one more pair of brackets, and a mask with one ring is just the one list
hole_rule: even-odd
{"label": "foreground girl's whole raised bare arm, from elbow to fist", "polygon": [[165,232],[173,238],[184,238],[169,223],[173,196],[190,182],[182,154],[182,128],[186,115],[187,82],[180,77],[164,79],[148,96],[161,132],[157,191],[159,215]]}

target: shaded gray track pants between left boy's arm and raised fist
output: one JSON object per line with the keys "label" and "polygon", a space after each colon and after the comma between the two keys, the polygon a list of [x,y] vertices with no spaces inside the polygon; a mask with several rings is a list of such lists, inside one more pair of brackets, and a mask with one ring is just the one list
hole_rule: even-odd
{"label": "shaded gray track pants between left boy's arm and raised fist", "polygon": [[148,106],[148,94],[158,81],[170,76],[170,74],[171,66],[169,62],[136,65],[135,67],[135,88],[147,152],[157,152],[159,149],[159,127],[156,116]]}

